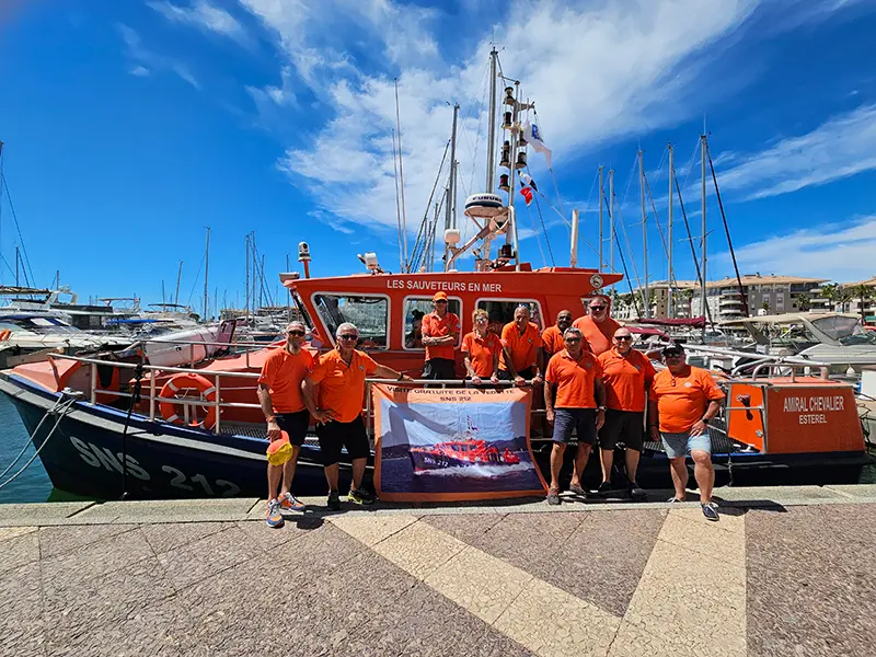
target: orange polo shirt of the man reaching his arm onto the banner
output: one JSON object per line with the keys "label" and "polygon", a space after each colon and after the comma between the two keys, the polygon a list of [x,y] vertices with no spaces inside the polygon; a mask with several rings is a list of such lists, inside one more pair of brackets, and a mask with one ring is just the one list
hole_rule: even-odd
{"label": "orange polo shirt of the man reaching his arm onto the banner", "polygon": [[377,367],[373,358],[357,349],[349,365],[338,349],[321,355],[308,372],[308,379],[320,384],[316,405],[333,411],[337,422],[353,422],[362,412],[365,378],[374,373]]}

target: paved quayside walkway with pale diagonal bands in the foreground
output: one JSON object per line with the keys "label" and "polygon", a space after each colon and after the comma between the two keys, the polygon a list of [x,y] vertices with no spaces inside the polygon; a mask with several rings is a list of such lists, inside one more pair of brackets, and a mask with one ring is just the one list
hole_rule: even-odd
{"label": "paved quayside walkway with pale diagonal bands in the foreground", "polygon": [[0,505],[0,655],[872,656],[876,486],[721,495]]}

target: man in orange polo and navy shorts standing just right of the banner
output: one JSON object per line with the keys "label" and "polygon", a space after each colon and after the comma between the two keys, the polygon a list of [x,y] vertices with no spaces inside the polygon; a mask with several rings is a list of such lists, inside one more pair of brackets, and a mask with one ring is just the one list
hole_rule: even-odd
{"label": "man in orange polo and navy shorts standing just right of the banner", "polygon": [[584,336],[578,328],[566,328],[563,339],[566,348],[548,364],[548,383],[544,387],[548,422],[554,424],[551,487],[548,489],[548,504],[551,505],[560,504],[560,471],[573,430],[577,434],[578,452],[568,489],[576,495],[586,494],[581,475],[596,445],[597,431],[606,420],[606,389],[599,360],[584,349]]}

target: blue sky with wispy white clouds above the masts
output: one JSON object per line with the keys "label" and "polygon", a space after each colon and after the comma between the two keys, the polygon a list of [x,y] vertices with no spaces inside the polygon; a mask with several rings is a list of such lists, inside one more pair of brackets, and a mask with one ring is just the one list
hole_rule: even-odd
{"label": "blue sky with wispy white clouds above the masts", "polygon": [[[566,217],[585,212],[581,264],[597,265],[587,243],[602,164],[616,172],[625,255],[642,268],[637,178],[626,192],[639,146],[665,227],[673,145],[699,234],[692,155],[705,116],[744,273],[856,280],[876,274],[874,30],[872,0],[13,0],[0,9],[3,173],[37,285],[60,269],[81,295],[155,301],[182,260],[181,300],[196,303],[206,226],[210,293],[229,304],[242,303],[249,231],[273,292],[301,240],[314,275],[358,272],[365,251],[397,270],[393,81],[413,243],[449,103],[462,107],[459,203],[483,191],[495,39],[503,71],[535,101],[558,195],[530,151],[531,174]],[[0,253],[14,266],[19,238],[0,205]],[[551,257],[532,210],[520,212],[521,250],[541,266]],[[567,264],[565,220],[541,210]],[[707,218],[714,278],[730,273],[714,196]],[[676,252],[678,277],[692,277],[688,244]]]}

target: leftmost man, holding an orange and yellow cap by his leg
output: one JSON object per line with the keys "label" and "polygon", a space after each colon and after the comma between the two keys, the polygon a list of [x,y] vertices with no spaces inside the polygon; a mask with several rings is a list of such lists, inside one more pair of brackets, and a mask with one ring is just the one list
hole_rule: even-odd
{"label": "leftmost man, holding an orange and yellow cap by his leg", "polygon": [[[304,510],[304,505],[291,493],[295,466],[310,424],[310,414],[301,396],[301,382],[313,357],[302,348],[304,333],[304,324],[291,322],[286,327],[286,344],[270,351],[258,377],[256,394],[267,420],[267,438],[274,442],[280,437],[280,431],[286,431],[292,446],[292,458],[284,465],[267,464],[265,521],[268,527],[283,527],[281,510]],[[283,487],[277,496],[280,480]]]}

